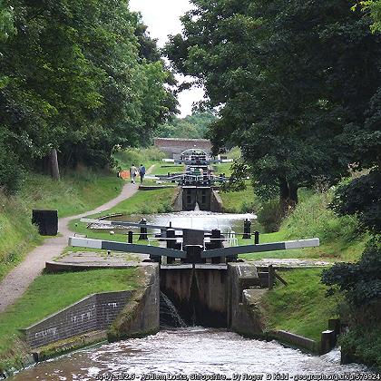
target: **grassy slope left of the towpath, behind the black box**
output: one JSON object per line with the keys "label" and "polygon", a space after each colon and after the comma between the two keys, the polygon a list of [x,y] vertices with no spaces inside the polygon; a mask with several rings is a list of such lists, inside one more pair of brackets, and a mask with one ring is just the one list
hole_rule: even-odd
{"label": "grassy slope left of the towpath, behind the black box", "polygon": [[19,194],[0,193],[0,280],[43,241],[31,222],[33,209],[58,210],[59,217],[78,214],[116,197],[122,185],[110,173],[68,172],[59,182],[29,173]]}

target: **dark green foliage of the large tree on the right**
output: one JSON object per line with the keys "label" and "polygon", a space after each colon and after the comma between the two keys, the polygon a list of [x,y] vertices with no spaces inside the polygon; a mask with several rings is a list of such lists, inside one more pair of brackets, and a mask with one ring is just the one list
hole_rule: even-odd
{"label": "dark green foliage of the large tree on the right", "polygon": [[216,149],[239,145],[256,189],[284,207],[300,186],[338,181],[381,79],[370,21],[346,0],[192,3],[166,52],[221,107]]}

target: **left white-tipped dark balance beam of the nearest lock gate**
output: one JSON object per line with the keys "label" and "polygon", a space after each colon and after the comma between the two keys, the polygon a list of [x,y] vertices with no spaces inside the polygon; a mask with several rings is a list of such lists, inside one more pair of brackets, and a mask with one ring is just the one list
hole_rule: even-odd
{"label": "left white-tipped dark balance beam of the nearest lock gate", "polygon": [[157,246],[135,245],[102,239],[83,239],[78,237],[69,238],[69,246],[74,248],[103,249],[111,251],[122,251],[126,253],[150,254],[171,258],[187,258],[187,253],[181,250],[160,248]]}

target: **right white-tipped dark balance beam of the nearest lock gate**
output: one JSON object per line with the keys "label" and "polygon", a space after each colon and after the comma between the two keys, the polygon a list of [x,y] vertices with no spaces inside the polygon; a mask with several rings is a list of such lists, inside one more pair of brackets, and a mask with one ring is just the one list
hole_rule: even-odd
{"label": "right white-tipped dark balance beam of the nearest lock gate", "polygon": [[261,243],[258,245],[233,246],[231,248],[202,251],[201,258],[232,257],[239,254],[260,253],[288,249],[314,248],[320,245],[319,239],[298,239],[283,242]]}

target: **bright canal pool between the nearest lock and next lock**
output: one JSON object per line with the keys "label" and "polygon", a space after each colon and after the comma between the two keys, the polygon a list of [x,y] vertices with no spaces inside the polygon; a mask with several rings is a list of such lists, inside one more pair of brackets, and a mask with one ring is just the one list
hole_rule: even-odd
{"label": "bright canal pool between the nearest lock and next lock", "polygon": [[161,214],[134,214],[131,216],[113,217],[112,220],[139,222],[144,218],[152,225],[169,226],[185,229],[213,230],[227,232],[229,228],[236,232],[243,232],[243,221],[246,219],[255,222],[257,216],[252,213],[232,214],[215,213],[211,211],[179,211]]}

